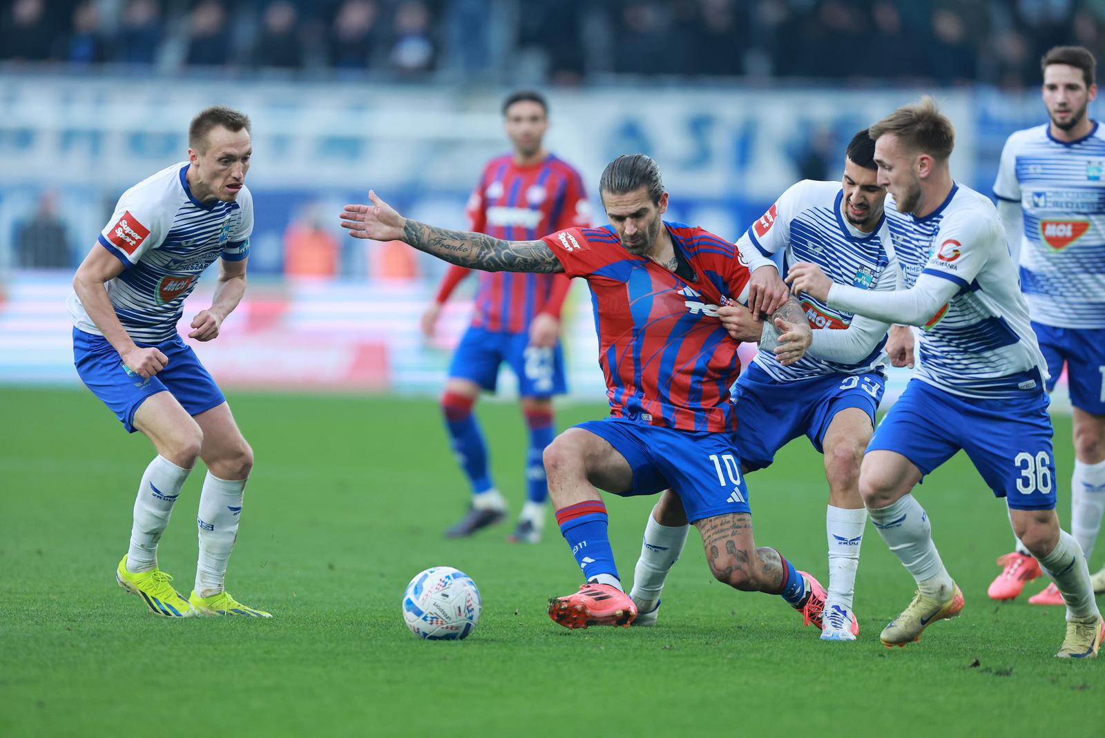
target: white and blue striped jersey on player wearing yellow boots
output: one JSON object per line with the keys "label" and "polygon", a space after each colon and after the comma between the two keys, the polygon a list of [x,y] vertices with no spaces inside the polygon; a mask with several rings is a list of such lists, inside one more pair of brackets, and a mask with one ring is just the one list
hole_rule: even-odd
{"label": "white and blue striped jersey on player wearing yellow boots", "polygon": [[[250,255],[253,198],[243,187],[234,202],[200,202],[175,164],[123,193],[99,244],[126,267],[104,286],[115,314],[136,342],[157,344],[177,335],[183,302],[200,273],[217,259]],[[66,305],[78,329],[102,335],[75,292]]]}

